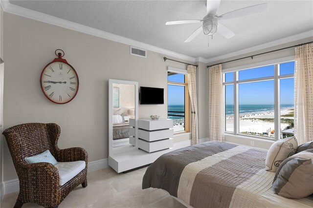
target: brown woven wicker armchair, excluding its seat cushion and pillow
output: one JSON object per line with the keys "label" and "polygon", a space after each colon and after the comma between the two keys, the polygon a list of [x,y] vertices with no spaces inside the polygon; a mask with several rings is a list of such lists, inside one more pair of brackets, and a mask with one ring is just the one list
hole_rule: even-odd
{"label": "brown woven wicker armchair, excluding its seat cushion and pillow", "polygon": [[[58,207],[68,193],[82,184],[87,187],[88,154],[85,149],[59,149],[60,126],[56,124],[22,124],[6,129],[6,138],[20,180],[20,193],[14,208],[32,202],[44,207]],[[50,150],[58,162],[85,161],[86,167],[63,186],[59,186],[58,169],[50,163],[27,164],[25,157]]]}

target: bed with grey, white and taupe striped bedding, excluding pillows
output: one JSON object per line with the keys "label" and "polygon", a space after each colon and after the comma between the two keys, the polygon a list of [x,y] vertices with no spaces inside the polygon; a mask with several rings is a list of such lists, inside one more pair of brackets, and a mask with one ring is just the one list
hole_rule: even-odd
{"label": "bed with grey, white and taupe striped bedding, excluding pillows", "polygon": [[287,199],[271,190],[267,151],[206,142],[166,153],[151,164],[142,188],[162,188],[194,208],[313,207],[312,195]]}

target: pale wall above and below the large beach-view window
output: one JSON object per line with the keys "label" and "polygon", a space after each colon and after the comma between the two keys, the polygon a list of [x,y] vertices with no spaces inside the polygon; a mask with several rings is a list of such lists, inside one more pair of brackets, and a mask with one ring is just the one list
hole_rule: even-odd
{"label": "pale wall above and below the large beach-view window", "polygon": [[[238,58],[242,58],[242,57],[246,57],[246,56],[251,56],[251,55],[264,53],[267,51],[285,48],[285,47],[289,47],[292,45],[301,44],[301,43],[305,43],[305,42],[311,42],[311,41],[313,41],[313,37],[299,40],[299,41],[295,41],[295,42],[289,42],[286,44],[266,48],[263,50],[259,50],[259,51],[255,51],[255,52],[251,52],[251,53],[247,53],[247,54],[243,54],[243,55],[232,57],[229,59],[224,59],[224,60],[220,60],[220,61],[216,61],[216,62],[210,62],[207,65],[213,65],[213,64],[217,64],[217,63],[221,63],[221,62],[226,62],[226,61],[230,61],[230,60],[234,60],[234,59],[238,59]],[[268,61],[268,60],[274,60],[274,59],[279,59],[279,58],[284,58],[284,57],[289,57],[289,56],[294,56],[294,55],[295,55],[294,48],[289,48],[289,49],[285,49],[285,50],[281,50],[281,51],[277,51],[277,52],[273,52],[273,53],[255,56],[255,57],[253,57],[253,59],[247,58],[247,59],[243,59],[243,60],[239,60],[239,61],[235,61],[235,62],[224,63],[224,64],[222,64],[222,68],[223,69],[232,68],[232,67],[243,66],[243,65],[247,65],[247,64],[251,64],[251,63],[264,62],[264,61]],[[209,79],[208,70],[209,69],[206,70],[206,79],[207,80]],[[208,82],[206,83],[206,87],[208,88]],[[207,95],[206,99],[208,102],[208,95]],[[208,116],[207,116],[207,121],[208,121]],[[208,122],[207,122],[207,124],[208,124]],[[208,125],[210,125],[210,124],[208,124]],[[208,135],[208,132],[207,132],[207,135]],[[271,146],[271,144],[273,143],[272,141],[265,141],[262,139],[252,139],[249,137],[225,135],[225,142],[231,142],[231,143],[249,146],[251,144],[251,141],[254,141],[254,146],[260,147],[260,148],[266,148],[266,149],[268,149]]]}

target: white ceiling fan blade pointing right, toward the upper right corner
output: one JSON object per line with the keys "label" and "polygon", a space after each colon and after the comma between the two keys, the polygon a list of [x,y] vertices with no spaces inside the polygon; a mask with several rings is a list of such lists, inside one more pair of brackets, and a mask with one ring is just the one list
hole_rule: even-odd
{"label": "white ceiling fan blade pointing right, toward the upper right corner", "polygon": [[264,12],[267,10],[267,3],[261,3],[254,6],[248,6],[242,9],[237,9],[228,13],[225,13],[223,15],[218,16],[218,20],[227,20],[237,17],[243,17],[247,15],[252,15],[259,12]]}

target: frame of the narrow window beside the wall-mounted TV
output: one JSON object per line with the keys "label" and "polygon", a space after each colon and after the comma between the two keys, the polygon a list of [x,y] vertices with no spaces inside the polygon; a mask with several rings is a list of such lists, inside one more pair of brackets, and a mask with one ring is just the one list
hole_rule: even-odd
{"label": "frame of the narrow window beside the wall-mounted TV", "polygon": [[[168,71],[168,72],[170,72],[170,71]],[[179,73],[179,72],[174,72],[174,73],[183,74],[183,73]],[[189,90],[188,90],[188,78],[187,78],[186,74],[183,74],[183,75],[184,75],[184,83],[167,81],[167,86],[168,85],[184,86],[184,104],[185,104],[185,109],[184,109],[185,121],[184,121],[184,123],[185,123],[185,130],[174,132],[174,134],[181,134],[181,133],[190,132],[190,115],[189,115],[190,114],[190,96],[189,96]],[[168,96],[168,91],[167,91],[167,96]],[[168,115],[168,102],[167,102],[167,115]]]}

